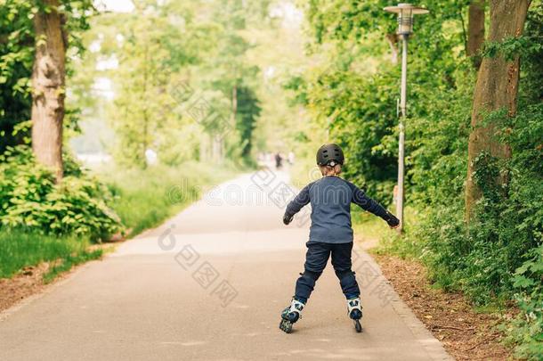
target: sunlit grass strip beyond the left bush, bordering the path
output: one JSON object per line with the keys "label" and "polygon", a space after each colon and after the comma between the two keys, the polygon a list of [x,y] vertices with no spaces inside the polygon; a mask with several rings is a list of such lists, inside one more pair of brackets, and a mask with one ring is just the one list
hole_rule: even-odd
{"label": "sunlit grass strip beyond the left bush, bordering the path", "polygon": [[109,169],[97,176],[116,196],[111,204],[132,237],[158,226],[213,185],[239,173],[239,169],[190,162],[179,168]]}

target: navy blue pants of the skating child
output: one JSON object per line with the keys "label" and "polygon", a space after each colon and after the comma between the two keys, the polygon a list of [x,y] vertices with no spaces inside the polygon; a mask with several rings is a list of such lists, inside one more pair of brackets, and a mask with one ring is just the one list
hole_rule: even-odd
{"label": "navy blue pants of the skating child", "polygon": [[361,290],[356,283],[356,277],[351,269],[351,252],[353,251],[353,242],[349,243],[325,243],[325,242],[307,242],[307,254],[305,255],[304,273],[296,281],[295,298],[306,303],[315,283],[319,279],[324,267],[328,263],[328,258],[332,256],[332,266],[339,278],[339,284],[344,292],[346,299],[359,297]]}

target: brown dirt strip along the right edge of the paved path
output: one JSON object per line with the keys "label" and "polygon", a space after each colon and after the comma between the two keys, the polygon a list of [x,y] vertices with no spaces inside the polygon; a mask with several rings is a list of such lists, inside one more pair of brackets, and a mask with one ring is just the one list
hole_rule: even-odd
{"label": "brown dirt strip along the right edge of the paved path", "polygon": [[457,360],[507,360],[512,350],[496,331],[500,316],[476,313],[460,293],[434,290],[425,267],[415,261],[372,254],[385,277],[434,337]]}

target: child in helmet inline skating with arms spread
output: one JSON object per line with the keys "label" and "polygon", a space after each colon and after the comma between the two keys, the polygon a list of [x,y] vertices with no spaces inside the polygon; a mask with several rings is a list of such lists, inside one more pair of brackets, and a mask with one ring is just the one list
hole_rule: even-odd
{"label": "child in helmet inline skating with arms spread", "polygon": [[288,203],[283,223],[288,225],[294,215],[311,202],[312,225],[309,233],[304,273],[296,281],[296,293],[288,308],[281,313],[280,329],[292,331],[292,324],[300,318],[316,281],[319,279],[328,258],[332,257],[332,266],[347,299],[347,312],[353,319],[357,332],[361,332],[362,317],[361,291],[351,269],[351,251],[353,250],[353,228],[351,227],[351,203],[385,219],[388,226],[400,225],[398,218],[370,199],[356,185],[340,178],[344,164],[344,153],[336,144],[322,145],[317,152],[317,165],[322,178],[306,185]]}

